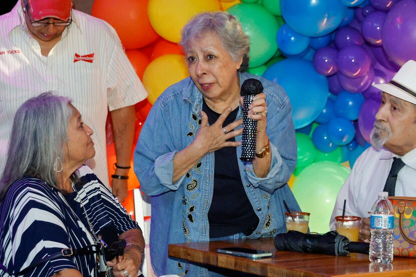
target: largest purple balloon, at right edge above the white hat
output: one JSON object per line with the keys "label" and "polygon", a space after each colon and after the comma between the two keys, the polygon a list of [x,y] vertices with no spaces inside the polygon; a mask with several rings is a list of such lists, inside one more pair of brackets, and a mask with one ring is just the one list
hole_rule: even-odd
{"label": "largest purple balloon, at right edge above the white hat", "polygon": [[387,13],[381,32],[385,53],[399,66],[416,60],[415,30],[416,1],[401,0]]}

